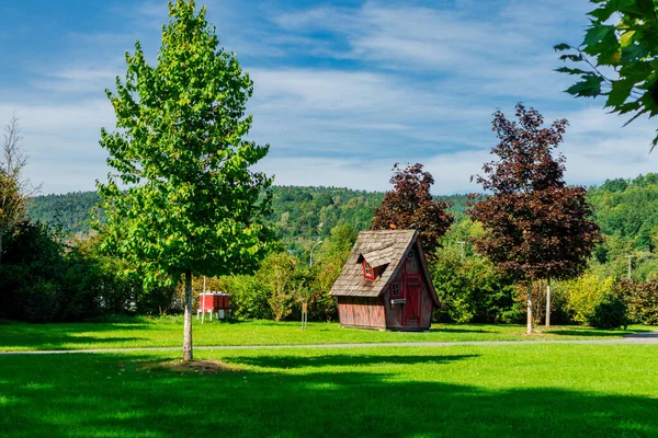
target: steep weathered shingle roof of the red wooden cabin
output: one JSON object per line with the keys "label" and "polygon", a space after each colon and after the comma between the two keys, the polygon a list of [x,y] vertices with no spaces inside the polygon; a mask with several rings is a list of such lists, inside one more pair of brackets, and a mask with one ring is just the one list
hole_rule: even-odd
{"label": "steep weathered shingle roof of the red wooden cabin", "polygon": [[[334,297],[378,297],[402,266],[402,261],[417,238],[415,230],[360,232],[352,253],[329,293]],[[373,268],[384,266],[384,270],[374,280],[363,276],[361,263],[364,260]],[[431,279],[427,276],[424,257],[421,256],[421,261],[426,280],[435,297]]]}

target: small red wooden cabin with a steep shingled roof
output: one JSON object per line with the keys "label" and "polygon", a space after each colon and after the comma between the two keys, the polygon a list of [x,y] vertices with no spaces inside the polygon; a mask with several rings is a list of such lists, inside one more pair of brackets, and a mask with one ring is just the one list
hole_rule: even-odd
{"label": "small red wooden cabin with a steep shingled roof", "polygon": [[429,330],[439,297],[415,230],[363,231],[333,284],[341,325]]}

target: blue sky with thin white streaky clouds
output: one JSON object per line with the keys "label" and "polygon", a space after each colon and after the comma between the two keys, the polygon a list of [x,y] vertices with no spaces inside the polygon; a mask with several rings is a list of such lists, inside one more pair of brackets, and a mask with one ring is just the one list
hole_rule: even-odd
{"label": "blue sky with thin white streaky clouds", "polygon": [[[563,93],[552,46],[578,44],[585,0],[197,1],[254,81],[251,138],[276,184],[387,189],[395,162],[421,162],[435,194],[478,191],[491,114],[522,101],[567,118],[567,181],[658,171],[654,120],[622,128],[601,100]],[[0,124],[15,112],[43,193],[94,188],[109,172],[104,95],[140,41],[150,59],[166,1],[0,2]]]}

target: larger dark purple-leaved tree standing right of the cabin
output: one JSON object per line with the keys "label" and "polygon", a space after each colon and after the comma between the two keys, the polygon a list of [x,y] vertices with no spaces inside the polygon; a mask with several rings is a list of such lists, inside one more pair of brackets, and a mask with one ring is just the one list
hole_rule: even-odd
{"label": "larger dark purple-leaved tree standing right of the cabin", "polygon": [[[601,241],[599,227],[583,187],[564,181],[565,158],[553,157],[563,141],[567,120],[549,128],[533,108],[517,105],[519,123],[497,111],[494,131],[500,142],[491,153],[498,159],[484,165],[476,180],[491,196],[481,198],[468,215],[480,221],[485,235],[475,241],[509,278],[527,285],[527,333],[532,333],[531,283],[572,278],[586,268]],[[548,286],[549,311],[549,286]],[[548,312],[549,314],[549,312]],[[549,316],[547,318],[549,324]]]}

